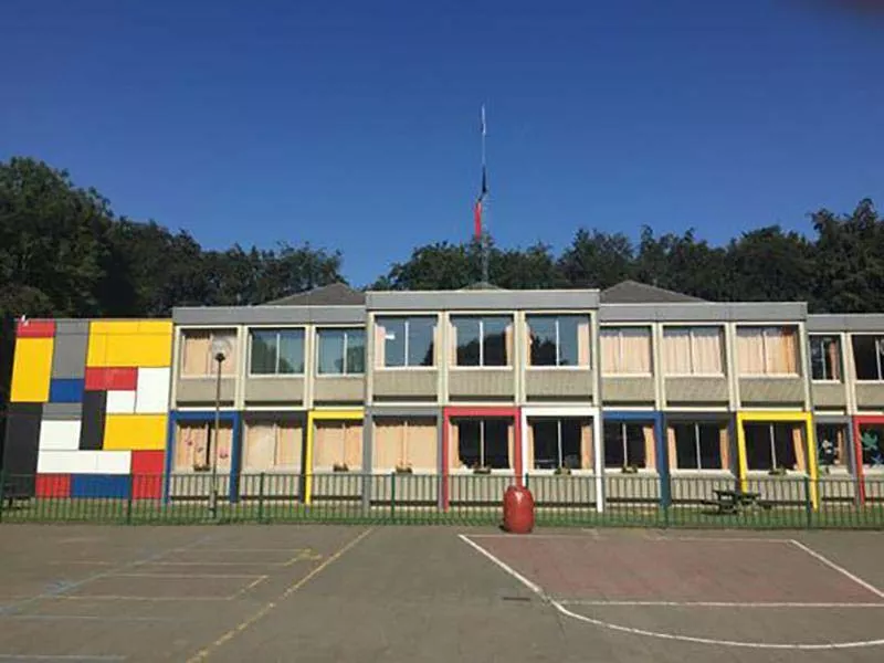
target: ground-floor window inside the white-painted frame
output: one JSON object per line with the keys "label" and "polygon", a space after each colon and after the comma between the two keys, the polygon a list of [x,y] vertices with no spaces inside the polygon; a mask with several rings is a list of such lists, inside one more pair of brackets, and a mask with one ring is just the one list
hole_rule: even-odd
{"label": "ground-floor window inside the white-painted frame", "polygon": [[580,470],[592,467],[592,428],[581,419],[537,419],[530,424],[534,454],[529,467],[535,470],[557,470],[568,467]]}

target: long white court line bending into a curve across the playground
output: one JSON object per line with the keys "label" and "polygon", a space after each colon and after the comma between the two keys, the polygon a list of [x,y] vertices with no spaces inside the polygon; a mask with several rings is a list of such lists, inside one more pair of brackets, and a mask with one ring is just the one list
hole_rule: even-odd
{"label": "long white court line bending into a curve across the playground", "polygon": [[556,610],[558,610],[561,614],[566,617],[570,617],[571,619],[576,619],[577,621],[581,621],[583,623],[592,624],[594,627],[600,627],[602,629],[608,629],[611,631],[618,631],[620,633],[629,633],[631,635],[643,635],[646,638],[656,638],[659,640],[671,640],[677,642],[692,642],[695,644],[715,644],[719,646],[736,646],[736,648],[744,648],[744,649],[756,649],[756,650],[800,650],[800,651],[825,651],[825,650],[844,650],[844,649],[860,649],[860,648],[867,648],[867,646],[878,646],[884,644],[884,639],[878,640],[862,640],[862,641],[853,641],[853,642],[827,642],[820,644],[810,644],[810,643],[768,643],[768,642],[744,642],[737,640],[718,640],[715,638],[696,638],[693,635],[681,635],[678,633],[661,633],[657,631],[646,631],[644,629],[635,629],[633,627],[624,627],[622,624],[614,624],[611,622],[602,621],[600,619],[593,619],[591,617],[587,617],[586,614],[579,614],[566,608],[560,601],[556,601],[555,599],[550,599],[546,596],[543,588],[535,582],[528,580],[525,576],[516,571],[513,567],[507,565],[505,561],[498,559],[485,548],[476,544],[475,541],[470,540],[466,535],[459,534],[457,535],[461,540],[469,544],[475,550],[478,550],[484,557],[493,561],[496,566],[502,568],[506,571],[509,576],[522,582],[525,587],[530,589],[534,593],[541,597],[545,601],[548,601]]}

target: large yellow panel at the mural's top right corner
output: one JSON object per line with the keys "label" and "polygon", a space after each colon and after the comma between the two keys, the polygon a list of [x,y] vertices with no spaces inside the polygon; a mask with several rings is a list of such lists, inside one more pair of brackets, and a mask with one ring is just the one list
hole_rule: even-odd
{"label": "large yellow panel at the mural's top right corner", "polygon": [[94,320],[90,325],[87,366],[166,368],[171,362],[169,320]]}

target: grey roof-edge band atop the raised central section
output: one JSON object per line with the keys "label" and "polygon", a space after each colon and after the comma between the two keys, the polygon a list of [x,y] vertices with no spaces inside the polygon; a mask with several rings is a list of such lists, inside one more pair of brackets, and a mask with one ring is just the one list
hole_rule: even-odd
{"label": "grey roof-edge band atop the raised central section", "polygon": [[373,292],[370,311],[571,311],[599,306],[599,291]]}

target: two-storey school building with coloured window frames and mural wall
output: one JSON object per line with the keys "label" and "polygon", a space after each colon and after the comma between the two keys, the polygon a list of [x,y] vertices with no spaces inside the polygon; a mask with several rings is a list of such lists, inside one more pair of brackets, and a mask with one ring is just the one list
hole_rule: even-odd
{"label": "two-storey school building with coloured window frames and mural wall", "polygon": [[[884,315],[631,282],[333,285],[171,320],[23,322],[11,396],[4,472],[38,495],[202,497],[214,466],[231,501],[370,503],[389,498],[371,476],[396,474],[442,508],[528,481],[602,509],[774,474],[809,477],[814,504],[863,502],[884,475]],[[544,481],[562,474],[567,495]]]}

